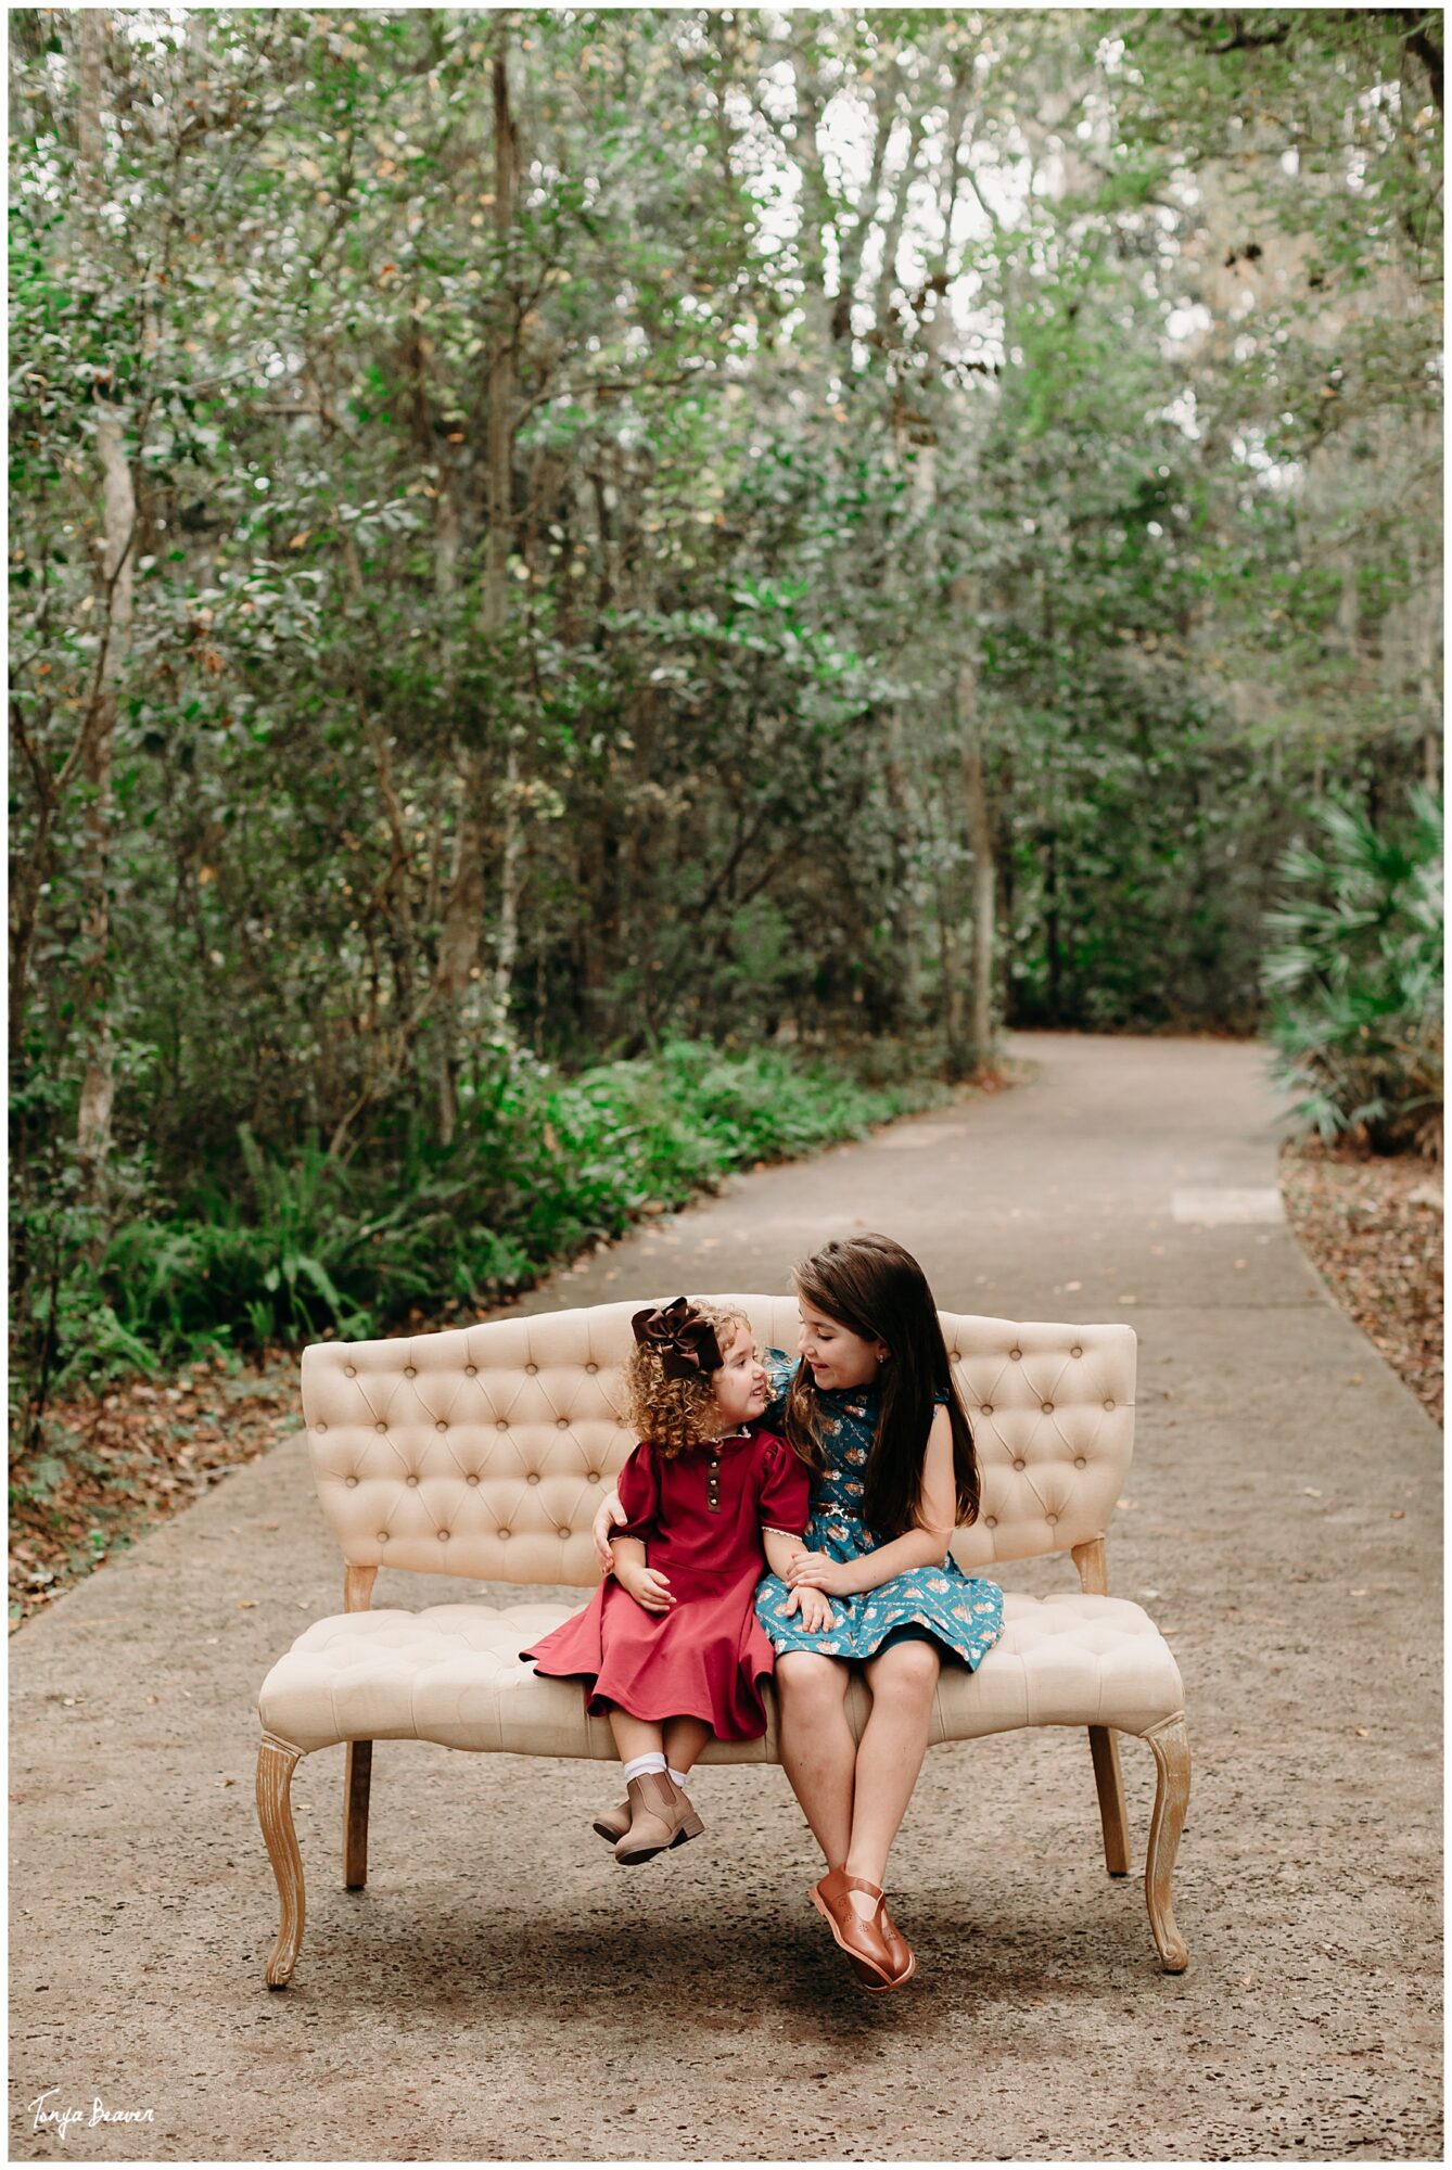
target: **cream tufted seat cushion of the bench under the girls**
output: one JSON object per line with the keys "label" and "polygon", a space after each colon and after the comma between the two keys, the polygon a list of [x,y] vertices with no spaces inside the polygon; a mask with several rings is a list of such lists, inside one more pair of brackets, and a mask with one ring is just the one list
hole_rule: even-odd
{"label": "cream tufted seat cushion of the bench under the girls", "polygon": [[[263,1682],[265,1732],[313,1751],[339,1740],[436,1740],[514,1756],[614,1762],[606,1719],[588,1719],[573,1680],[540,1680],[519,1662],[579,1606],[428,1606],[339,1612],[297,1636]],[[977,1673],[944,1664],[931,1740],[977,1740],[1020,1725],[1113,1725],[1142,1734],[1185,1708],[1170,1645],[1126,1597],[1007,1591],[1003,1636]],[[766,1690],[764,1740],[712,1740],[703,1762],[777,1762]],[[862,1677],[846,1701],[862,1734]]]}

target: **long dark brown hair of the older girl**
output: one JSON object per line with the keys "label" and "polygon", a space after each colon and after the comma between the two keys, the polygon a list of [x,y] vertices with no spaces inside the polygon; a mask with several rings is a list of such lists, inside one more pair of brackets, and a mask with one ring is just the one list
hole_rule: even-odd
{"label": "long dark brown hair of the older girl", "polygon": [[[953,1504],[961,1523],[979,1519],[979,1456],[972,1426],[953,1384],[938,1306],[922,1267],[890,1235],[831,1239],[792,1269],[803,1302],[864,1341],[883,1341],[888,1361],[877,1384],[881,1402],[862,1489],[862,1519],[883,1539],[918,1521],[922,1458],[933,1424],[933,1395],[946,1395],[953,1426]],[[786,1437],[810,1469],[825,1467],[820,1400],[801,1363],[786,1395]]]}

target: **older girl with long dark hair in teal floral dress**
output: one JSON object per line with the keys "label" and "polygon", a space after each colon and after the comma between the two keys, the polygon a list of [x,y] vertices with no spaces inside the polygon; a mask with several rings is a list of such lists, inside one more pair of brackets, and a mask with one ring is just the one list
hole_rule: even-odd
{"label": "older girl with long dark hair in teal floral dress", "polygon": [[[812,1903],[862,1988],[881,1992],[916,1968],[883,1879],[938,1673],[985,1658],[1003,1593],[948,1554],[953,1530],[977,1521],[979,1467],[918,1261],[859,1235],[827,1243],[792,1280],[801,1363],[770,1352],[777,1402],[762,1421],[812,1469],[812,1519],[786,1575],[760,1582],[757,1619],[777,1649],[781,1764],[827,1862]],[[807,1593],[829,1599],[825,1625],[820,1608],[803,1625]],[[846,1723],[853,1667],[873,1693],[859,1743]]]}

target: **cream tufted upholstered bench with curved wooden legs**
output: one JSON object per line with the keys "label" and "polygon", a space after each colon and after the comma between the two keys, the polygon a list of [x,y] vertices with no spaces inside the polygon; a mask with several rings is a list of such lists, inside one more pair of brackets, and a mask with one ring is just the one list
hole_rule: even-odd
{"label": "cream tufted upholstered bench with curved wooden legs", "polygon": [[[571,1606],[369,1610],[380,1567],[486,1582],[597,1582],[590,1521],[634,1445],[619,1415],[629,1304],[495,1319],[395,1341],[323,1341],[302,1358],[302,1406],[323,1512],[343,1547],[345,1610],[308,1628],[260,1693],[256,1799],[278,1877],[282,1927],[267,1981],[297,1964],[304,1881],[289,1788],[302,1756],[347,1745],[343,1881],[367,1877],[373,1740],[614,1760],[579,1684],[540,1680],[519,1651]],[[786,1295],[738,1304],[760,1345],[794,1348]],[[975,1740],[1018,1725],[1087,1725],[1109,1875],[1131,1864],[1116,1732],[1155,1753],[1146,1851],[1150,1929],[1168,1973],[1187,1964],[1170,1879],[1189,1801],[1185,1695],[1148,1614],[1105,1584],[1105,1530],[1133,1450],[1135,1335],[1129,1326],[1018,1326],[955,1317],[942,1328],[983,1476],[979,1521],[953,1552],[968,1571],[1068,1552],[1079,1591],[1005,1593],[1003,1636],[977,1673],[944,1667],[931,1738]],[[849,1690],[859,1736],[870,1710]],[[764,1740],[710,1743],[705,1762],[777,1762]]]}

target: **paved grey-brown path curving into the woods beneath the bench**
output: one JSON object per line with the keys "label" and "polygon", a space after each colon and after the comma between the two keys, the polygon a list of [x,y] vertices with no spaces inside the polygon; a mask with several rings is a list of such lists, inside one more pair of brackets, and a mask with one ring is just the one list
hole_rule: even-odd
{"label": "paved grey-brown path curving into the woods beneath the bench", "polygon": [[[269,1994],[256,1688],[341,1604],[293,1439],[11,1643],[13,2157],[1439,2157],[1437,1432],[1257,1217],[1252,1048],[1016,1052],[1033,1083],[751,1176],[525,1309],[784,1287],[864,1224],[944,1309],[1131,1319],[1109,1565],[1185,1673],[1189,1973],[1105,1877],[1079,1734],[929,1756],[892,1877],[918,1979],[881,2001],[805,1903],[779,1771],[705,1773],[710,1842],[623,1877],[595,1769],[384,1745],[362,1897],[336,1881],[341,1756],[300,1769],[308,1933]],[[1148,1753],[1124,1769],[1142,1847]],[[41,2090],[154,2118],[61,2148]]]}

